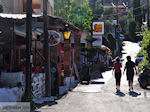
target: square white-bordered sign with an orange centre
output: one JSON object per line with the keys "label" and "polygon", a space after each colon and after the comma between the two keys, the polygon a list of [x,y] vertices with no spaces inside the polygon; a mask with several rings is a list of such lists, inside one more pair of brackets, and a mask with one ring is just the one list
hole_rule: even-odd
{"label": "square white-bordered sign with an orange centre", "polygon": [[104,22],[93,22],[93,35],[104,34]]}

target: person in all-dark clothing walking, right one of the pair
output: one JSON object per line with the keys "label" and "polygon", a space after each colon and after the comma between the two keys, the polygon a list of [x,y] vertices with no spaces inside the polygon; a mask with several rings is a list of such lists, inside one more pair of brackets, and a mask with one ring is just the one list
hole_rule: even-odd
{"label": "person in all-dark clothing walking, right one of the pair", "polygon": [[[123,74],[126,70],[127,80],[129,84],[129,92],[131,92],[133,91],[133,78],[134,78],[134,72],[136,71],[136,65],[133,61],[131,61],[131,56],[127,56],[126,58],[127,58],[127,62],[125,64]],[[137,71],[136,71],[136,74],[137,74]]]}

